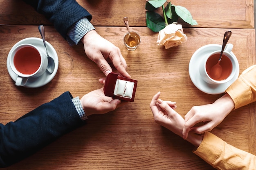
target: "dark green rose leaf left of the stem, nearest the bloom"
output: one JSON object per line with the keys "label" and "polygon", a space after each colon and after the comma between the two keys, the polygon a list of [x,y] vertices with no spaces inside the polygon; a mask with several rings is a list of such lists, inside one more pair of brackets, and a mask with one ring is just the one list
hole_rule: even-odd
{"label": "dark green rose leaf left of the stem, nearest the bloom", "polygon": [[159,32],[165,27],[164,18],[154,11],[146,11],[146,24],[154,32]]}

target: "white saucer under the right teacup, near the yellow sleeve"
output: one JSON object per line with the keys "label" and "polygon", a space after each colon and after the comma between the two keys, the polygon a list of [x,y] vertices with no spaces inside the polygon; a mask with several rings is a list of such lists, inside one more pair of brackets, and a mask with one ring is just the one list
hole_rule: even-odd
{"label": "white saucer under the right teacup, near the yellow sleeve", "polygon": [[[208,54],[210,54],[213,51],[221,50],[221,45],[219,44],[208,44],[205,46],[202,46],[198,50],[194,52],[192,55],[190,61],[189,61],[189,76],[191,78],[191,81],[194,83],[194,85],[200,89],[202,92],[207,94],[221,94],[224,93],[227,87],[229,87],[239,76],[239,67],[236,70],[234,78],[231,79],[231,81],[227,83],[223,83],[221,85],[212,85],[209,83],[206,83],[200,76],[198,64],[201,62],[201,60],[204,57],[207,57]],[[232,55],[234,55],[233,52],[231,52]],[[236,59],[236,61],[237,59]]]}

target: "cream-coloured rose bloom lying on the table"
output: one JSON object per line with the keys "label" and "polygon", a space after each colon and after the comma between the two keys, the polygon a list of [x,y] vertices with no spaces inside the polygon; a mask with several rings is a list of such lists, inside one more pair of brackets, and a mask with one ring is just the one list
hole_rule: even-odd
{"label": "cream-coloured rose bloom lying on the table", "polygon": [[181,24],[169,24],[164,29],[159,31],[157,44],[165,46],[165,49],[176,47],[184,43],[188,38],[183,33]]}

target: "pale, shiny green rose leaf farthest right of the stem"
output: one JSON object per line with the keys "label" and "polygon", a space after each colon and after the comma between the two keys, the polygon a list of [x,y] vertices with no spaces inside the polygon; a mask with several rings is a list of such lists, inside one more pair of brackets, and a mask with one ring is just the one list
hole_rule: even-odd
{"label": "pale, shiny green rose leaf farthest right of the stem", "polygon": [[198,24],[195,20],[193,20],[191,13],[185,7],[175,6],[173,4],[172,4],[172,6],[175,7],[175,12],[177,13],[177,15],[179,15],[179,17],[183,21],[185,21],[186,23],[188,23],[190,25],[197,25]]}

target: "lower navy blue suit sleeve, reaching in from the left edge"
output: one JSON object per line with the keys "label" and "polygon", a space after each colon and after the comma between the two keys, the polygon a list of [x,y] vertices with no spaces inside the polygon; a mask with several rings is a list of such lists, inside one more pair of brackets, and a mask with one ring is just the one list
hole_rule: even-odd
{"label": "lower navy blue suit sleeve, reaching in from the left edge", "polygon": [[83,125],[69,92],[25,114],[0,124],[0,167],[10,166]]}

